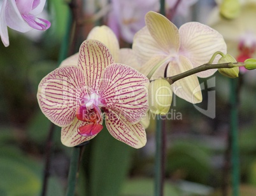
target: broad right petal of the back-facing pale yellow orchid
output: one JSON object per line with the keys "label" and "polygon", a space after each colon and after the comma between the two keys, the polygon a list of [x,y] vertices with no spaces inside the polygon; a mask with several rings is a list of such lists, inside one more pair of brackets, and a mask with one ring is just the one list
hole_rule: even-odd
{"label": "broad right petal of the back-facing pale yellow orchid", "polygon": [[[223,36],[216,30],[198,22],[188,22],[180,27],[180,54],[186,56],[193,67],[208,63],[216,51],[227,53]],[[219,56],[213,63],[217,63]],[[217,69],[200,72],[199,77],[209,77]]]}

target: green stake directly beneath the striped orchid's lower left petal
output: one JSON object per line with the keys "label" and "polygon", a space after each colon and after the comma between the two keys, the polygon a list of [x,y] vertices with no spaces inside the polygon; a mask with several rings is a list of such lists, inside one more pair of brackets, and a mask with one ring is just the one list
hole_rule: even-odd
{"label": "green stake directly beneath the striped orchid's lower left petal", "polygon": [[80,162],[80,151],[82,147],[73,147],[71,156],[69,174],[68,174],[68,190],[66,196],[74,196],[76,190],[76,179],[78,177],[78,166]]}

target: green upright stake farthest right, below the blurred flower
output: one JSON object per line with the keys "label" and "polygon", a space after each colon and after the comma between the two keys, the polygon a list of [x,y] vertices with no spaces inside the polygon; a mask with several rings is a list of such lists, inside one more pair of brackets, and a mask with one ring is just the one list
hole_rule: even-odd
{"label": "green upright stake farthest right, below the blurred flower", "polygon": [[238,147],[238,80],[230,81],[231,103],[231,161],[232,161],[232,195],[239,195],[239,147]]}

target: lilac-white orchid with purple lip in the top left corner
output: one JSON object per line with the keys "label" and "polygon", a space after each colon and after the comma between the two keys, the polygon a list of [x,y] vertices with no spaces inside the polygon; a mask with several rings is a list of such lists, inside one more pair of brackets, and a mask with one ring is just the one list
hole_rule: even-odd
{"label": "lilac-white orchid with purple lip in the top left corner", "polygon": [[45,0],[4,0],[0,11],[0,36],[4,46],[9,46],[7,27],[19,32],[48,29],[51,23],[36,17],[44,6]]}

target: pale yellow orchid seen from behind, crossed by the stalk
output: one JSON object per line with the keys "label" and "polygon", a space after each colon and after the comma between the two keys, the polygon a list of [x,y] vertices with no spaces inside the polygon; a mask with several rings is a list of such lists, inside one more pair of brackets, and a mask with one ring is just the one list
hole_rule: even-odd
{"label": "pale yellow orchid seen from behind, crossed by the stalk", "polygon": [[[140,72],[148,75],[159,65],[152,79],[181,74],[204,63],[208,63],[213,53],[226,53],[224,38],[216,30],[198,22],[185,23],[178,29],[165,16],[150,11],[145,16],[146,27],[134,36],[132,49],[142,67]],[[217,56],[213,63],[217,63]],[[173,93],[190,103],[202,101],[201,88],[197,76],[209,77],[217,69],[190,75],[172,84]]]}

